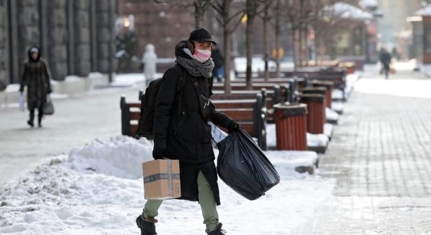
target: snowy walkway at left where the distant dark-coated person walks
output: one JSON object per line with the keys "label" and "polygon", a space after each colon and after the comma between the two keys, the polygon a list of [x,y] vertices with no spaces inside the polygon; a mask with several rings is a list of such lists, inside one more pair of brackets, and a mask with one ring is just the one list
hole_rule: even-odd
{"label": "snowy walkway at left where the distant dark-coated person walks", "polygon": [[94,138],[121,134],[120,95],[138,99],[138,90],[102,90],[54,100],[55,114],[42,129],[29,128],[28,111],[0,109],[0,185],[28,171],[48,156],[68,153]]}

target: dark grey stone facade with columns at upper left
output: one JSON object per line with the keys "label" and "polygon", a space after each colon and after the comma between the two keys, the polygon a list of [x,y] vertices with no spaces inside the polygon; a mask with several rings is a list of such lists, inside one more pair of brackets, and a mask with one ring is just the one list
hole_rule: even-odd
{"label": "dark grey stone facade with columns at upper left", "polygon": [[0,80],[18,83],[38,45],[53,79],[114,66],[116,0],[0,0]]}

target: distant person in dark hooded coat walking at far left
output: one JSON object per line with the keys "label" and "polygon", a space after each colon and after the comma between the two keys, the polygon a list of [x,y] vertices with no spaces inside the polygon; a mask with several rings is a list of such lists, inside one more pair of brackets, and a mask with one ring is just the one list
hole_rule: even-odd
{"label": "distant person in dark hooded coat walking at far left", "polygon": [[38,47],[31,47],[28,56],[29,60],[24,64],[19,91],[22,95],[27,86],[27,107],[30,111],[28,125],[34,126],[34,110],[37,108],[38,126],[42,127],[43,106],[47,103],[47,95],[51,93],[51,72],[47,62],[40,58]]}

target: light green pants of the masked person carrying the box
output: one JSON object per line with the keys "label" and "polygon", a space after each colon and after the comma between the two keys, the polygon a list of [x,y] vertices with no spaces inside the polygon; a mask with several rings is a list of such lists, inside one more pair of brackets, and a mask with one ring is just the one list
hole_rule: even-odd
{"label": "light green pants of the masked person carrying the box", "polygon": [[[215,230],[215,226],[218,224],[217,205],[215,203],[213,191],[202,171],[199,171],[198,175],[198,199],[204,218],[203,223],[207,226],[207,230]],[[162,201],[163,200],[146,201],[142,216],[146,218],[157,217]]]}

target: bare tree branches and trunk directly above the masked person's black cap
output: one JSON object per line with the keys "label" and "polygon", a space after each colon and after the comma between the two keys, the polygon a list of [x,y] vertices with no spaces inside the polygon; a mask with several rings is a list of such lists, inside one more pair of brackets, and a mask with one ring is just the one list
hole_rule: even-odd
{"label": "bare tree branches and trunk directly above the masked person's black cap", "polygon": [[205,16],[205,12],[211,8],[214,0],[154,0],[157,4],[166,4],[172,6],[178,6],[181,8],[193,8],[194,21],[196,24],[196,28],[203,27],[203,18]]}

